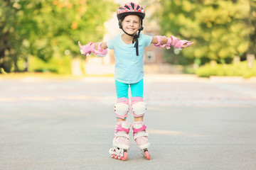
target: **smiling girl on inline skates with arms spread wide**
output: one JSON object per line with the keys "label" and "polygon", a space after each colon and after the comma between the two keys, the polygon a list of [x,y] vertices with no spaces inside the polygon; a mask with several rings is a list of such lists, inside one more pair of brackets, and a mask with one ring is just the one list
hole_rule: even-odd
{"label": "smiling girl on inline skates with arms spread wide", "polygon": [[[142,21],[144,17],[144,8],[139,4],[132,2],[124,4],[117,9],[119,28],[124,33],[107,42],[89,42],[89,44],[83,46],[78,42],[80,51],[85,56],[91,52],[95,55],[105,56],[107,55],[107,48],[114,50],[114,79],[117,91],[114,113],[117,117],[117,125],[110,155],[123,161],[127,159],[127,150],[130,148],[128,134],[131,127],[139,149],[142,149],[146,159],[150,159],[148,133],[146,133],[146,125],[143,121],[146,113],[146,103],[143,101],[144,47],[151,43],[156,47],[166,47],[167,49],[170,48],[170,45],[176,48],[185,48],[193,44],[193,42],[179,40],[174,36],[166,38],[158,35],[152,38],[149,35],[140,34],[143,30]],[[131,106],[129,106],[128,98],[129,87],[132,92]],[[133,124],[126,121],[129,110],[132,111],[134,116]]]}

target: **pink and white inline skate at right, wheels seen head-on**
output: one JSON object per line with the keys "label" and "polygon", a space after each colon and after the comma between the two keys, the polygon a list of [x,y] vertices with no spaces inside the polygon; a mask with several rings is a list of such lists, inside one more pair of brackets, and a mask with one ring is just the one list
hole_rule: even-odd
{"label": "pink and white inline skate at right, wheels seen head-on", "polygon": [[132,125],[134,140],[137,143],[139,149],[142,150],[142,154],[147,160],[150,159],[149,155],[149,140],[147,137],[149,134],[146,132],[146,125],[143,122],[134,122]]}

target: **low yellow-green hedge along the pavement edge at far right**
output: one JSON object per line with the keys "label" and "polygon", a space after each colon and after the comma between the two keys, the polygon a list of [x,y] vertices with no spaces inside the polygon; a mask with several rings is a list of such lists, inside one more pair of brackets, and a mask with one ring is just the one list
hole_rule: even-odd
{"label": "low yellow-green hedge along the pavement edge at far right", "polygon": [[[255,62],[256,65],[256,62]],[[255,77],[256,67],[247,67],[247,62],[237,64],[205,64],[196,70],[198,77],[228,76],[228,77]]]}

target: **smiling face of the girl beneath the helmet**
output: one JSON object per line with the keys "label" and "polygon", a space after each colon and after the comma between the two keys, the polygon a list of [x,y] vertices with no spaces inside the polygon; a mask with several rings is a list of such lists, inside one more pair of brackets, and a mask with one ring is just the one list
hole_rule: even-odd
{"label": "smiling face of the girl beneath the helmet", "polygon": [[140,28],[140,18],[139,16],[126,16],[124,17],[124,20],[122,21],[122,28],[125,32],[134,35],[137,33],[137,31]]}

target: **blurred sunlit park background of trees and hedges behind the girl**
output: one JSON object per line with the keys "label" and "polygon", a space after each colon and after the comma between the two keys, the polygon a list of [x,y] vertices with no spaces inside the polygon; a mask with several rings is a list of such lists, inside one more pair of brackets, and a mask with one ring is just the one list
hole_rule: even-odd
{"label": "blurred sunlit park background of trees and hedges behind the girl", "polygon": [[[117,33],[116,10],[129,1],[0,0],[0,74],[112,75],[106,57],[80,54],[78,40],[106,41]],[[256,76],[256,0],[142,0],[144,31],[175,35],[186,50],[150,47],[145,71],[210,76]]]}

